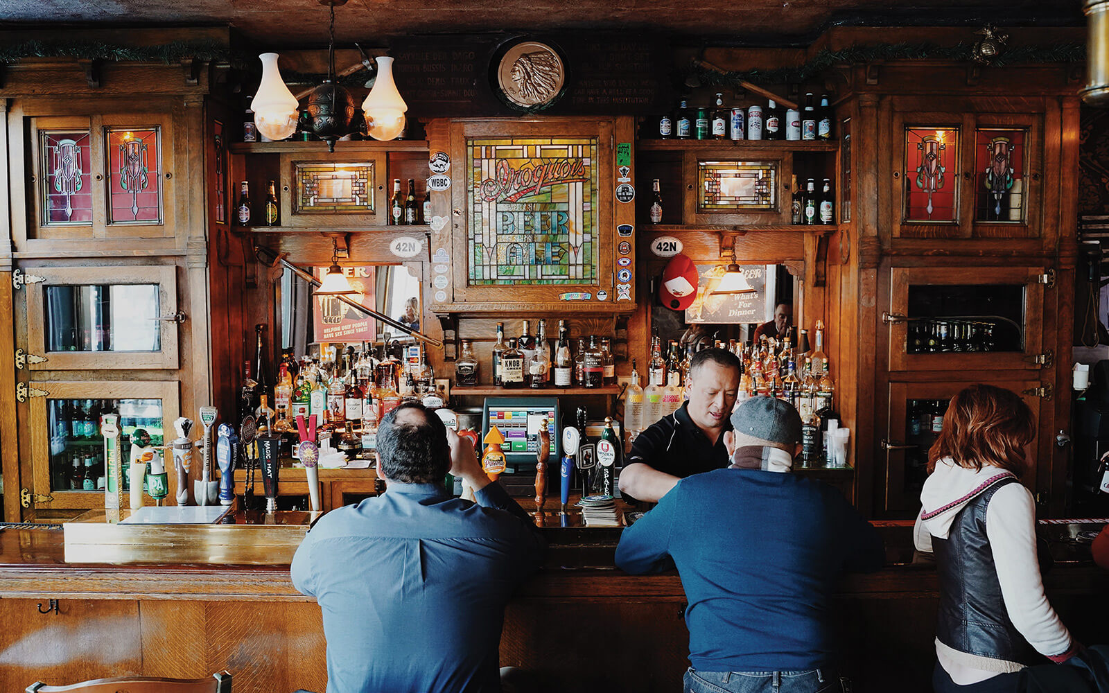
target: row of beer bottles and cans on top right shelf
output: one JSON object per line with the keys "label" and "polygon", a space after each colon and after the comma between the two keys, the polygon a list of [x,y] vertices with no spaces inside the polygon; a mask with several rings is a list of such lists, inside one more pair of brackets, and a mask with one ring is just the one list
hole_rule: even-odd
{"label": "row of beer bottles and cans on top right shelf", "polygon": [[679,102],[674,113],[659,119],[659,137],[669,140],[832,140],[832,109],[828,95],[821,94],[813,105],[813,94],[805,94],[803,110],[783,110],[773,100],[766,106],[725,106],[723,92],[716,93],[715,106],[690,108]]}

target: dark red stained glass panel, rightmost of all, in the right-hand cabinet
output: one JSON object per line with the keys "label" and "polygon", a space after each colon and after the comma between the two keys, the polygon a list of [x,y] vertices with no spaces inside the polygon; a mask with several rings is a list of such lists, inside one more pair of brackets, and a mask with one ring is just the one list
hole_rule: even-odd
{"label": "dark red stained glass panel, rightmost of all, in the right-hand cabinet", "polygon": [[1019,224],[1025,221],[1026,130],[975,131],[976,222]]}

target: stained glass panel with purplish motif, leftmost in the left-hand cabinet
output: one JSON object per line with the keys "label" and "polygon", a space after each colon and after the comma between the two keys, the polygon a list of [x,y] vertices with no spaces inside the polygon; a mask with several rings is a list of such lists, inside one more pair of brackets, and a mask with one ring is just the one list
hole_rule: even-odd
{"label": "stained glass panel with purplish motif, leftmost in the left-hand cabinet", "polygon": [[89,131],[40,131],[39,137],[43,225],[92,225]]}

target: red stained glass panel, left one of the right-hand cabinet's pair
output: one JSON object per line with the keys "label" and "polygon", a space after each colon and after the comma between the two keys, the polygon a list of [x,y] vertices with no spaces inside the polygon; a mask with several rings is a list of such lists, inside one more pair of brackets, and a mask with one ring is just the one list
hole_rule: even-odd
{"label": "red stained glass panel, left one of the right-hand cabinet's pair", "polygon": [[906,222],[953,223],[958,218],[959,131],[905,129]]}

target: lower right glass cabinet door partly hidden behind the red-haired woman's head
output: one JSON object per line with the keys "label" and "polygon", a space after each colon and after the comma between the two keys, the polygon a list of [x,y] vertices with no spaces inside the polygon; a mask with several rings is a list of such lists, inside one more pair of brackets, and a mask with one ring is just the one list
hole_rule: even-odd
{"label": "lower right glass cabinet door partly hidden behind the red-haired woman's head", "polygon": [[[968,383],[891,383],[889,421],[878,444],[877,459],[885,463],[882,507],[889,518],[912,519],[920,509],[920,489],[928,478],[928,449],[944,429],[944,414],[952,397]],[[1040,398],[1025,394],[1039,387],[1039,380],[990,383],[1021,394],[1039,420]],[[1037,449],[1036,440],[1031,449]],[[1036,471],[1028,470],[1025,483],[1035,485]]]}

